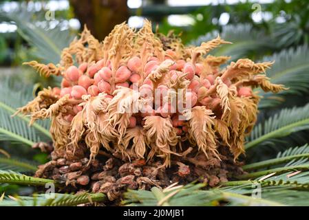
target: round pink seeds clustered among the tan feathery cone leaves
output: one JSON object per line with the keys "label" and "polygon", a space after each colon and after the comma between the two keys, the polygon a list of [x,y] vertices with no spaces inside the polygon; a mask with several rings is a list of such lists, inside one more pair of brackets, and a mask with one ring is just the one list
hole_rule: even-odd
{"label": "round pink seeds clustered among the tan feathery cone leaves", "polygon": [[[170,59],[173,61],[173,65],[169,67],[169,78],[175,80],[180,75],[186,73],[185,78],[190,81],[188,90],[185,93],[186,100],[190,100],[190,106],[194,107],[196,105],[204,105],[209,109],[215,109],[220,105],[220,98],[217,95],[207,96],[203,99],[198,99],[201,92],[201,87],[210,89],[215,83],[216,71],[203,77],[201,80],[200,75],[203,72],[204,65],[202,63],[193,63],[184,61],[182,59],[174,61],[173,56],[175,52],[167,50],[167,56],[165,59]],[[112,77],[111,64],[109,62],[105,63],[100,60],[96,63],[82,63],[78,67],[71,66],[63,74],[63,80],[61,82],[61,89],[54,87],[54,93],[60,97],[70,94],[70,98],[76,100],[81,100],[83,95],[98,96],[100,93],[107,94],[107,98],[113,98],[113,90],[117,86],[128,87],[133,89],[134,85],[141,85],[138,90],[140,96],[147,98],[149,93],[153,94],[153,82],[147,76],[154,70],[156,70],[160,65],[160,61],[155,56],[151,56],[142,69],[142,75],[145,80],[140,83],[140,69],[142,67],[142,61],[138,56],[133,56],[127,61],[126,65],[121,65],[116,70],[114,77]],[[231,80],[227,79],[223,83],[230,86]],[[115,85],[114,89],[111,85]],[[162,83],[156,87],[160,91],[160,94],[167,94],[169,87]],[[238,96],[251,96],[252,90],[250,87],[240,87],[237,91]],[[134,113],[131,116],[129,127],[135,127],[137,124],[143,125],[144,118],[147,115],[161,115],[164,118],[171,116],[173,126],[177,128],[178,135],[188,132],[188,127],[186,122],[179,120],[180,111],[177,107],[173,107],[169,102],[162,101],[161,95],[160,103],[162,103],[156,109],[153,108],[153,104],[146,104],[143,107],[143,111],[139,113]],[[83,107],[76,104],[73,108],[73,113],[65,115],[65,120],[72,121],[74,115],[81,111]]]}

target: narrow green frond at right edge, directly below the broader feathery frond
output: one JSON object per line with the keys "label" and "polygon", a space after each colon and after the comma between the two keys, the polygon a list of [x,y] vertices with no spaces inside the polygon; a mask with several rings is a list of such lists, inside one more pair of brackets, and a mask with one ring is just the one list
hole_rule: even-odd
{"label": "narrow green frond at right edge, directly below the broader feathery frond", "polygon": [[255,162],[253,164],[246,164],[242,166],[245,171],[257,170],[260,168],[268,168],[278,164],[288,163],[285,166],[300,165],[308,162],[309,158],[309,145],[296,146],[288,148],[284,152],[279,152],[274,159],[266,159],[261,162]]}

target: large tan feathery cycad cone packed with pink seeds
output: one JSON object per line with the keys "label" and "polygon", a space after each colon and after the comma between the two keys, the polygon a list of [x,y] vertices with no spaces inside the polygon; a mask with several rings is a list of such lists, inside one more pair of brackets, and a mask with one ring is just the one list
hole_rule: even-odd
{"label": "large tan feathery cycad cone packed with pink seeds", "polygon": [[32,122],[51,118],[54,153],[64,157],[83,148],[88,165],[105,152],[134,167],[143,161],[144,176],[156,164],[159,170],[179,166],[174,174],[187,178],[204,175],[207,163],[220,164],[226,152],[235,161],[257,118],[259,96],[252,89],[285,89],[266,77],[272,63],[239,59],[220,68],[230,57],[208,55],[229,43],[219,36],[198,47],[160,36],[149,21],[138,32],[116,25],[102,43],[85,28],[58,65],[27,63],[63,81],[61,91],[44,89],[18,111],[30,113]]}

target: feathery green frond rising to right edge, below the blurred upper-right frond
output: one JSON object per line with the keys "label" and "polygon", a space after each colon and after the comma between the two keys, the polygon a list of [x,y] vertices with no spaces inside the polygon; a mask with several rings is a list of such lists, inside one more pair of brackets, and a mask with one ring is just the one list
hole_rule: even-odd
{"label": "feathery green frond rising to right edge, below the blurred upper-right frond", "polygon": [[259,144],[273,145],[278,137],[309,129],[309,104],[304,107],[281,109],[265,122],[255,125],[248,136],[245,148],[253,148]]}

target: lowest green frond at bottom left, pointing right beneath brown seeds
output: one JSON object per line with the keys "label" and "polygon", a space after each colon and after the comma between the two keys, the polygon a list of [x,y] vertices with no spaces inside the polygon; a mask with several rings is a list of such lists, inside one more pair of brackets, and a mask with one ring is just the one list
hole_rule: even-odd
{"label": "lowest green frond at bottom left, pointing right beneath brown seeds", "polygon": [[0,201],[0,206],[77,206],[83,203],[103,202],[106,196],[103,193],[83,192],[78,195],[54,193],[54,198],[45,194],[32,197],[6,198]]}

